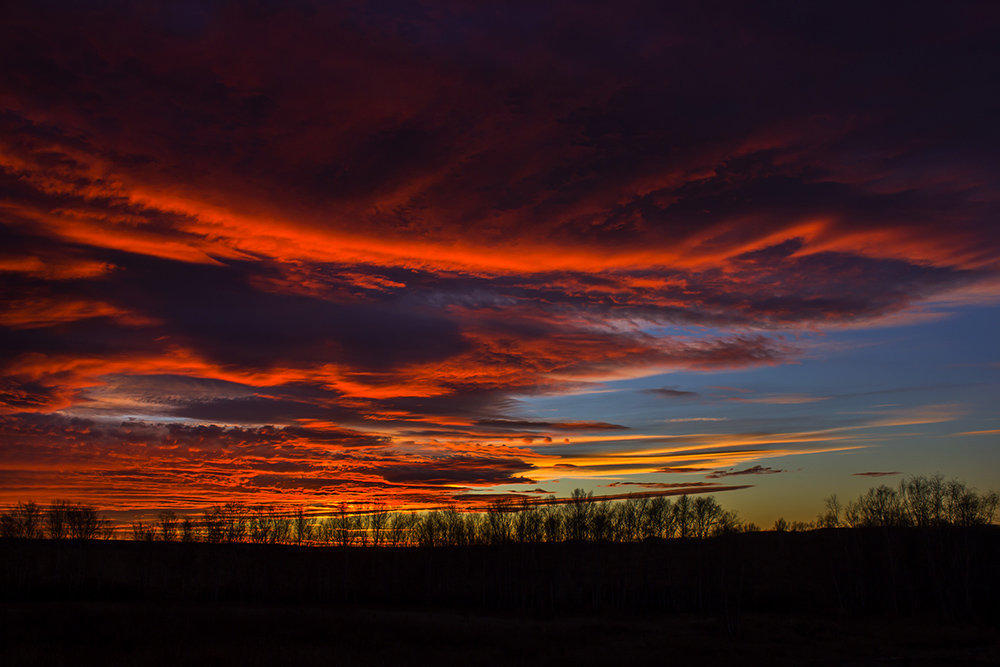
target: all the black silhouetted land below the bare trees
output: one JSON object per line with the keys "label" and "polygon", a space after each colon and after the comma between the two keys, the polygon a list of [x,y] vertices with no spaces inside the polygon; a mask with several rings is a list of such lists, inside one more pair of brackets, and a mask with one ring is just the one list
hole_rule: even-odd
{"label": "all the black silhouetted land below the bare trees", "polygon": [[1000,531],[0,542],[2,665],[996,665]]}

